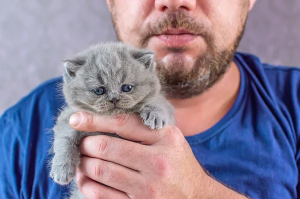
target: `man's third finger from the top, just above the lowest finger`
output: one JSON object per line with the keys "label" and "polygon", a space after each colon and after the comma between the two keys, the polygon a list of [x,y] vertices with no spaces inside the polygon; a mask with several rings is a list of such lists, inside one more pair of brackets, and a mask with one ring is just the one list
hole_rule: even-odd
{"label": "man's third finger from the top, just above the lowest finger", "polygon": [[135,194],[142,182],[139,172],[102,159],[82,156],[78,169],[95,181],[129,194]]}

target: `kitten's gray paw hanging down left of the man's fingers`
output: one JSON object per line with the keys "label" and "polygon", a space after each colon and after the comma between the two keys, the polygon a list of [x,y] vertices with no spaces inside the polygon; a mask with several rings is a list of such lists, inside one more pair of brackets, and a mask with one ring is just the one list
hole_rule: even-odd
{"label": "kitten's gray paw hanging down left of the man's fingers", "polygon": [[75,165],[71,164],[53,164],[50,177],[58,184],[68,184],[76,174]]}

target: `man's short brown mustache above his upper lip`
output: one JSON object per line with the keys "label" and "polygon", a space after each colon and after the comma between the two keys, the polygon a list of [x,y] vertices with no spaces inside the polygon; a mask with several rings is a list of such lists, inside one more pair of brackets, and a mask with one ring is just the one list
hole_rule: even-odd
{"label": "man's short brown mustache above his upper lip", "polygon": [[211,36],[205,29],[203,21],[196,20],[185,11],[173,14],[164,14],[155,22],[149,22],[145,31],[141,33],[140,45],[146,47],[151,36],[164,34],[167,29],[183,29],[195,35],[201,35],[207,44],[211,42]]}

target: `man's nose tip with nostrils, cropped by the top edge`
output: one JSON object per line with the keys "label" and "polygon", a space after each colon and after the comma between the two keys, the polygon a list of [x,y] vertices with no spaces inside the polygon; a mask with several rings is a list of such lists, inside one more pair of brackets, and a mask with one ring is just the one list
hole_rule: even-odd
{"label": "man's nose tip with nostrils, cropped by the top edge", "polygon": [[196,6],[196,0],[155,0],[155,7],[159,11],[177,10],[179,8],[187,11],[193,10]]}

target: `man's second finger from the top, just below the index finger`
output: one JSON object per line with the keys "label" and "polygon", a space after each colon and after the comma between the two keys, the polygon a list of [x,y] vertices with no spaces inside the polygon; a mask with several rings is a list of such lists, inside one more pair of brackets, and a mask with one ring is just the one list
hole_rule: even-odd
{"label": "man's second finger from the top, just below the index finger", "polygon": [[137,171],[145,171],[149,167],[155,151],[151,146],[106,135],[88,136],[81,142],[83,155],[114,162]]}

